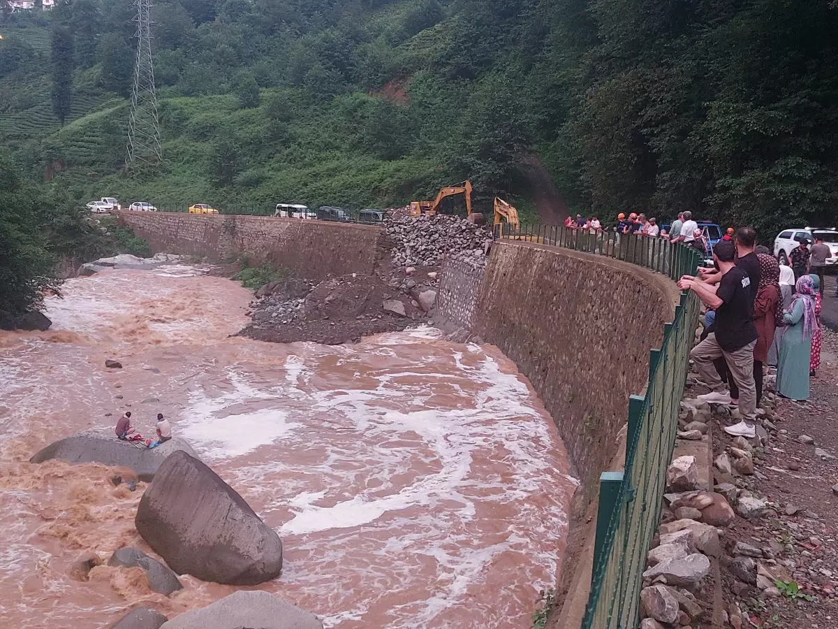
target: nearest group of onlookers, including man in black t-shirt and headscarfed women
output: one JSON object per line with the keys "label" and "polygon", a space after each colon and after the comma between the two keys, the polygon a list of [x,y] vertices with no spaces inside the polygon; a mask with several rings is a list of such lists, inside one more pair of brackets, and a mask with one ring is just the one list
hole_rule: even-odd
{"label": "nearest group of onlookers, including man in black t-shirt and headscarfed women", "polygon": [[822,274],[810,273],[809,243],[794,250],[799,253],[793,253],[789,267],[756,240],[753,227],[741,227],[735,237],[728,233],[713,247],[714,268],[699,268],[696,277],[685,275],[678,283],[707,309],[701,342],[691,351],[696,371],[711,389],[699,398],[737,406],[742,421],[725,430],[746,437],[754,434],[765,366],[777,367],[779,395],[808,399],[822,338]]}

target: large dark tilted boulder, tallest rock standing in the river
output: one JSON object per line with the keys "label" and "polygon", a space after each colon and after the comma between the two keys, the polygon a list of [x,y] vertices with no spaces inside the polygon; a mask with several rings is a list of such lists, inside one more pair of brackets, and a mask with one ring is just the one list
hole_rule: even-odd
{"label": "large dark tilted boulder, tallest rock standing in the river", "polygon": [[183,451],[160,465],[134,524],[178,574],[257,585],[282,571],[277,533],[213,470]]}

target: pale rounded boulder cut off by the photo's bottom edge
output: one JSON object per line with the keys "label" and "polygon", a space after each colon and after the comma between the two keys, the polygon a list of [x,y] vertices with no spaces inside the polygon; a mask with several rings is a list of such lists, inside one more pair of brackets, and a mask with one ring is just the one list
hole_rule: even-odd
{"label": "pale rounded boulder cut off by the photo's bottom edge", "polygon": [[199,610],[187,611],[161,629],[323,629],[311,612],[259,590],[239,591]]}

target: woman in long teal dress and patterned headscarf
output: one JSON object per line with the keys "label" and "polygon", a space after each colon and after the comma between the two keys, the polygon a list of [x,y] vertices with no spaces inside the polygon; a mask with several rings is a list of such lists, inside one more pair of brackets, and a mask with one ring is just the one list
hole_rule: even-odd
{"label": "woman in long teal dress and patterned headscarf", "polygon": [[801,276],[791,307],[783,313],[786,329],[780,341],[777,392],[793,400],[809,399],[812,336],[818,327],[814,287],[812,278]]}

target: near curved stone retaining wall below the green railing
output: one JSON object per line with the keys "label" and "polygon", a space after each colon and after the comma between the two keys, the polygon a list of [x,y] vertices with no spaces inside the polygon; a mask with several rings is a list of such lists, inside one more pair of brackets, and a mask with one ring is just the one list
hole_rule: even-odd
{"label": "near curved stone retaining wall below the green railing", "polygon": [[664,276],[618,260],[494,244],[473,331],[515,361],[556,422],[582,481],[574,516],[596,496],[678,295]]}

